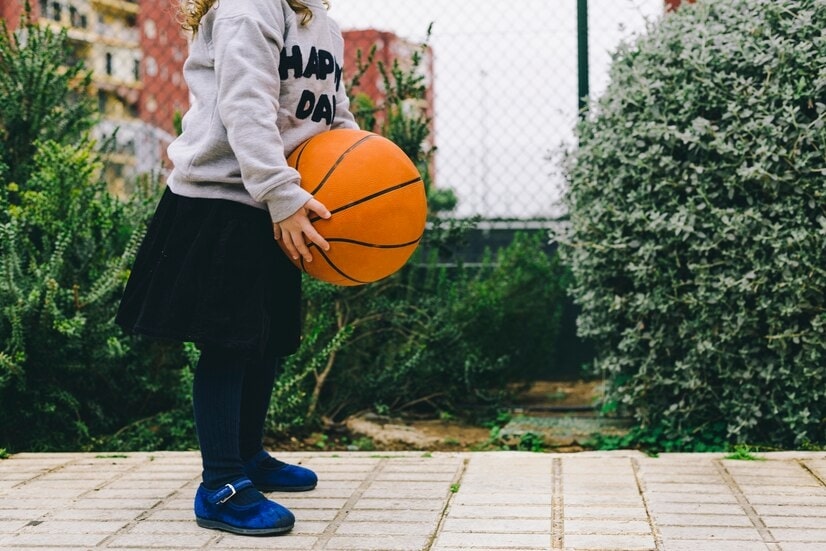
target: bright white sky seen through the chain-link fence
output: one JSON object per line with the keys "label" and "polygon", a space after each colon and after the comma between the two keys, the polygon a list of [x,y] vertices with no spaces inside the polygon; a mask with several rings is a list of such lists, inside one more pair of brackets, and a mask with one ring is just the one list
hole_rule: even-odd
{"label": "bright white sky seen through the chain-link fence", "polygon": [[[460,215],[549,216],[562,185],[548,153],[570,143],[577,113],[576,0],[332,0],[343,29],[376,28],[434,53],[436,183]],[[592,96],[617,44],[663,0],[590,0]]]}

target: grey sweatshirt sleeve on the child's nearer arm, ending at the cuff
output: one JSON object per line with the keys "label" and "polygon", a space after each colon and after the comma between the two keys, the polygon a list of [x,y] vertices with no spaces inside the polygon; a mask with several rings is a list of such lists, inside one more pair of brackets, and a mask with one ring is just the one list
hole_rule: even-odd
{"label": "grey sweatshirt sleeve on the child's nearer arm, ending at the cuff", "polygon": [[217,20],[212,34],[218,115],[244,187],[254,200],[266,203],[275,222],[312,197],[287,165],[277,126],[282,42],[278,29],[245,15]]}

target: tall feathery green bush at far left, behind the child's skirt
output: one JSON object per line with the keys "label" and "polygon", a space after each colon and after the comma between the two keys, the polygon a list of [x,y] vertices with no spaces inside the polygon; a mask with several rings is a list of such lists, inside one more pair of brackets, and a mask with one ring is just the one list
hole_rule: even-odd
{"label": "tall feathery green bush at far left, behind the child's skirt", "polygon": [[0,64],[0,446],[82,449],[178,400],[180,347],[114,324],[154,199],[100,180],[65,32],[3,28]]}

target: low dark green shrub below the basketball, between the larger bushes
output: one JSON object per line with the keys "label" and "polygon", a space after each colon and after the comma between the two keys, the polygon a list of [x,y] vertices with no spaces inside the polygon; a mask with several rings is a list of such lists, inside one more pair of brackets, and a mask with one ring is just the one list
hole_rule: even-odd
{"label": "low dark green shrub below the basketball, between the larger bushes", "polygon": [[495,405],[509,384],[553,373],[567,272],[545,239],[518,234],[483,268],[419,259],[364,287],[306,279],[305,337],[276,383],[271,428]]}

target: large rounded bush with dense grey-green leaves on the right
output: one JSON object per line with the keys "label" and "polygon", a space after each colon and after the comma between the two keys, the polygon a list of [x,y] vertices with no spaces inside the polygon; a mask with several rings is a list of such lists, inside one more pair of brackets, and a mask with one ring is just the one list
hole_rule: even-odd
{"label": "large rounded bush with dense grey-green leaves on the right", "polygon": [[655,447],[826,442],[824,28],[822,0],[685,5],[578,127],[580,332]]}

